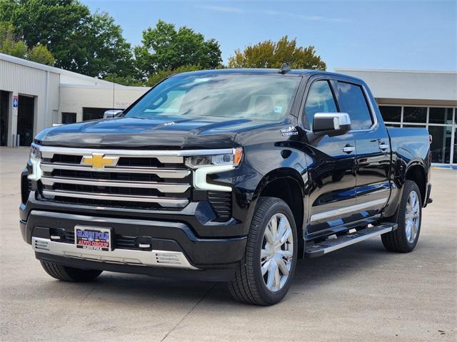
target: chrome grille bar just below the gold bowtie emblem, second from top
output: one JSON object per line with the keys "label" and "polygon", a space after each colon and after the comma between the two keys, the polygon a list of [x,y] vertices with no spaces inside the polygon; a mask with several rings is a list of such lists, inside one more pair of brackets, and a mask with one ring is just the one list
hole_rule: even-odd
{"label": "chrome grille bar just below the gold bowtie emblem, second from top", "polygon": [[119,173],[149,173],[160,178],[184,178],[191,174],[190,170],[162,169],[160,167],[105,167],[104,169],[92,169],[89,166],[74,164],[41,163],[43,172],[54,170],[92,171],[92,172],[119,172]]}

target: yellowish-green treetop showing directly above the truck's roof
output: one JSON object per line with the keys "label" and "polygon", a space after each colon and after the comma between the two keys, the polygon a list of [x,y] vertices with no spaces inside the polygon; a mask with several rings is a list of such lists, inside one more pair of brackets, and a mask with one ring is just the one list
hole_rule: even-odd
{"label": "yellowish-green treetop showing directly above the truck's roof", "polygon": [[296,38],[289,41],[288,36],[236,50],[235,56],[229,58],[229,68],[280,68],[285,62],[291,68],[326,70],[326,63],[314,46],[297,46]]}

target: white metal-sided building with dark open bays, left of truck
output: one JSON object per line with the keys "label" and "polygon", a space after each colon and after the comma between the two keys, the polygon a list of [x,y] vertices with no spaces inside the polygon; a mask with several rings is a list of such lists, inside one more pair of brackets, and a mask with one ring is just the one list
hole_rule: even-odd
{"label": "white metal-sided building with dark open bays, left of truck", "polygon": [[0,145],[30,145],[53,123],[103,117],[146,93],[0,53]]}

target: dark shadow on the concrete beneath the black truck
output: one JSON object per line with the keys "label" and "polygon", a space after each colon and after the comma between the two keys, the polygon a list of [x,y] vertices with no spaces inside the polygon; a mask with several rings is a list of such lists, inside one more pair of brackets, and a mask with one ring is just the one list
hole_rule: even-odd
{"label": "dark shadow on the concrete beneath the black truck", "polygon": [[[420,248],[420,246],[418,247]],[[375,264],[383,264],[396,257],[399,257],[399,254],[387,252],[383,249],[379,239],[373,239],[323,257],[300,259],[295,279],[283,302],[293,300],[291,294],[311,294],[322,284],[351,277],[358,272],[372,269]],[[91,283],[66,283],[49,278],[48,281],[24,284],[24,286],[33,286],[34,291],[29,291],[29,293],[34,293],[36,299],[41,300],[56,299],[71,294],[76,297],[94,296],[97,301],[115,299],[120,303],[135,301],[154,305],[159,301],[161,305],[170,307],[181,306],[183,301],[195,303],[201,301],[202,298],[218,305],[243,306],[231,299],[224,283],[164,279],[134,274],[104,272]],[[247,307],[255,308],[256,306]]]}

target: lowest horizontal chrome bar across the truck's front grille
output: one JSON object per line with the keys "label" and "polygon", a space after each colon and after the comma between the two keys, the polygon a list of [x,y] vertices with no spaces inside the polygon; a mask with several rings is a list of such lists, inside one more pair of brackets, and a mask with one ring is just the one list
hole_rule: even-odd
{"label": "lowest horizontal chrome bar across the truck's front grille", "polygon": [[61,190],[43,190],[44,196],[61,196],[61,197],[76,197],[85,199],[101,199],[109,201],[126,201],[126,202],[149,202],[159,204],[161,207],[183,208],[189,203],[188,199],[180,198],[162,198],[156,196],[130,196],[130,195],[111,195],[94,192],[78,192],[78,191],[61,191]]}

